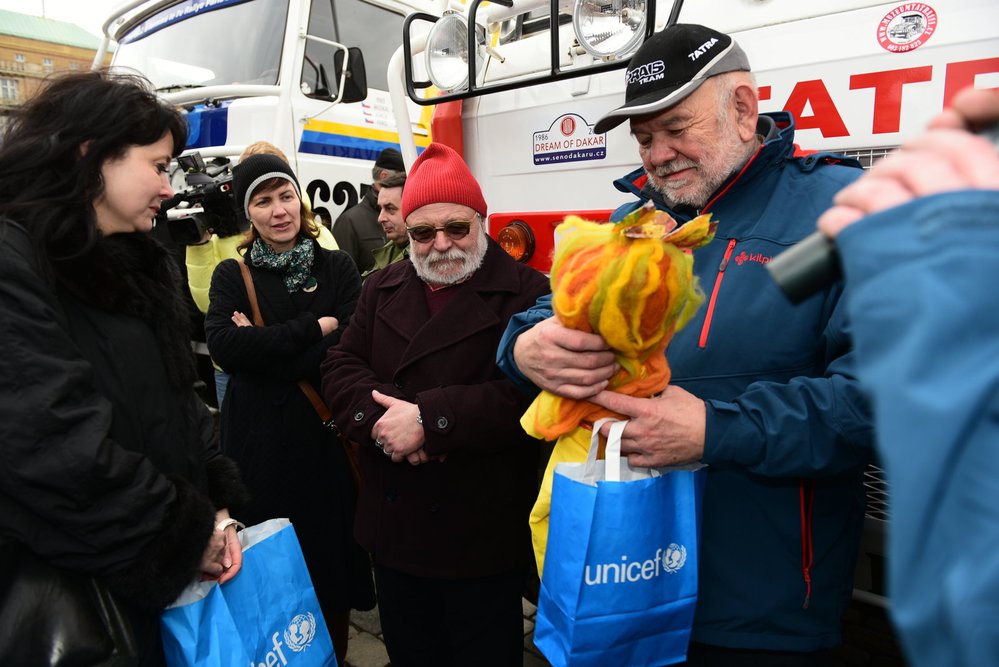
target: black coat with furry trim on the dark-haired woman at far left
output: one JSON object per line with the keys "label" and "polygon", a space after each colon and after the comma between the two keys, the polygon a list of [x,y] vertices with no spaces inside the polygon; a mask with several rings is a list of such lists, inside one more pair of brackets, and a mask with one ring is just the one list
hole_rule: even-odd
{"label": "black coat with furry trim on the dark-haired woman at far left", "polygon": [[[97,575],[130,613],[141,664],[159,664],[158,612],[245,489],[192,389],[166,250],[115,234],[56,275],[53,288],[25,229],[0,220],[0,557]],[[0,576],[5,589],[17,572]]]}

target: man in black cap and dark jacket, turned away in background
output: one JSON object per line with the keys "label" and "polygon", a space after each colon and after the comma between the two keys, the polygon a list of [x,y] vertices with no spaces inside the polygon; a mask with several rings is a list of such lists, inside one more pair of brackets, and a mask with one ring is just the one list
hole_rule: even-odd
{"label": "man in black cap and dark jacket, turned away in background", "polygon": [[396,148],[386,148],[378,154],[371,168],[371,187],[354,206],[340,214],[333,224],[333,237],[340,250],[350,255],[360,273],[374,266],[371,251],[385,245],[385,231],[378,222],[378,191],[382,181],[390,176],[405,174],[402,153]]}

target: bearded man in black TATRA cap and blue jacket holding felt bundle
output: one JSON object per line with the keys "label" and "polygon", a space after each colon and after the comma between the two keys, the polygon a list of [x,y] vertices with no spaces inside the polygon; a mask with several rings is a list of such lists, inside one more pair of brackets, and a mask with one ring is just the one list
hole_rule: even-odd
{"label": "bearded man in black TATRA cap and blue jacket holding felt bundle", "polygon": [[666,351],[672,384],[652,398],[604,391],[607,344],[562,327],[545,302],[511,321],[499,361],[525,385],[629,418],[621,451],[633,465],[709,464],[688,664],[805,667],[840,643],[871,418],[842,285],[794,307],[765,266],[861,170],[796,157],[793,118],[758,112],[749,69],[730,36],[669,26],[631,59],[625,103],[595,128],[628,121],[642,159],[615,183],[636,200],[613,220],[651,201],[681,224],[718,223],[693,253],[708,298]]}

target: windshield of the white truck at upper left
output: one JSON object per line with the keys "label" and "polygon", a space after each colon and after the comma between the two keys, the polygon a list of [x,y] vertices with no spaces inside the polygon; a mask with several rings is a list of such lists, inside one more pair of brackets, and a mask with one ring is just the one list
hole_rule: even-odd
{"label": "windshield of the white truck at upper left", "polygon": [[114,66],[141,72],[161,91],[276,84],[287,17],[287,0],[188,0],[123,35]]}

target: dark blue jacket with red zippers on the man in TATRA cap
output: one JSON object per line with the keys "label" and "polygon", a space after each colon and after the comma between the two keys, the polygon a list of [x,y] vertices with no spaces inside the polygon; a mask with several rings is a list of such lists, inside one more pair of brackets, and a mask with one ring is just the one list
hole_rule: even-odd
{"label": "dark blue jacket with red zippers on the man in TATRA cap", "polygon": [[[840,642],[864,516],[872,429],[853,376],[842,286],[794,306],[765,270],[815,230],[833,195],[859,177],[841,156],[794,157],[788,113],[764,114],[761,149],[703,212],[715,239],[694,251],[707,296],[666,351],[671,382],[705,400],[702,551],[693,640],[715,646],[815,651]],[[836,164],[839,162],[840,164]],[[652,199],[638,169],[615,185]],[[513,343],[551,315],[550,299],[515,317],[499,363],[515,381]]]}

